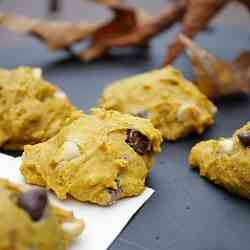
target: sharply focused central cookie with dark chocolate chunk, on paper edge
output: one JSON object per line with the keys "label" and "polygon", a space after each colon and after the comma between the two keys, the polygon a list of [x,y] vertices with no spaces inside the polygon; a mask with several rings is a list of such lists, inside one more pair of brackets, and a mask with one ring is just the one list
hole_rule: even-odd
{"label": "sharply focused central cookie with dark chocolate chunk, on paper edge", "polygon": [[59,199],[107,206],[144,191],[162,137],[148,119],[94,109],[50,140],[24,147],[21,172]]}

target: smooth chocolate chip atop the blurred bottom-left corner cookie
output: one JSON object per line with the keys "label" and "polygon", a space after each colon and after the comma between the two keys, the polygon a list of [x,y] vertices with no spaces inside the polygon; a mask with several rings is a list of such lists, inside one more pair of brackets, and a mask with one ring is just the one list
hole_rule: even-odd
{"label": "smooth chocolate chip atop the blurred bottom-left corner cookie", "polygon": [[47,203],[47,192],[40,188],[21,193],[17,201],[17,205],[25,210],[33,221],[38,221],[42,218]]}

